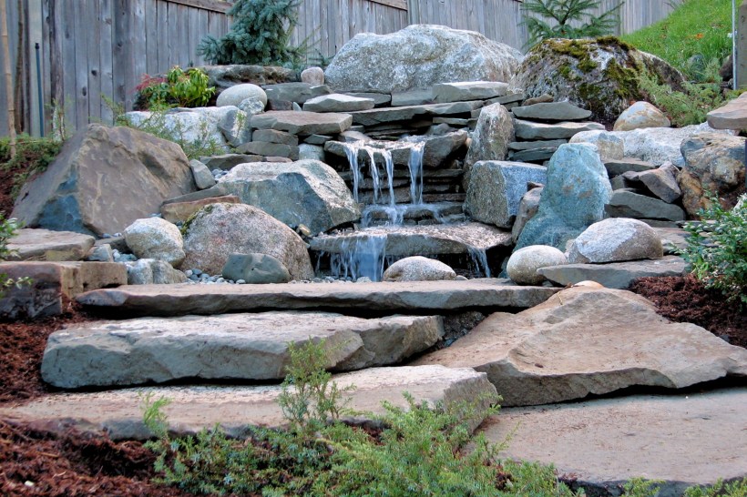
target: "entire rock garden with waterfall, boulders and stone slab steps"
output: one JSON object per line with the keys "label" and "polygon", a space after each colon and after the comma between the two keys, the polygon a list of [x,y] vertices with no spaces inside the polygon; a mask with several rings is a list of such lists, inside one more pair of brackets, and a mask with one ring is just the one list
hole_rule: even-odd
{"label": "entire rock garden with waterfall, boulders and stone slab steps", "polygon": [[324,70],[198,70],[201,106],[78,130],[5,209],[0,272],[30,282],[0,299],[27,358],[0,442],[74,430],[116,475],[152,462],[122,455],[159,434],[143,399],[171,437],[287,427],[311,343],[366,430],[417,411],[404,392],[497,402],[468,430],[587,495],[747,478],[740,112],[672,127],[638,72],[684,76],[614,38],[523,55],[411,25]]}

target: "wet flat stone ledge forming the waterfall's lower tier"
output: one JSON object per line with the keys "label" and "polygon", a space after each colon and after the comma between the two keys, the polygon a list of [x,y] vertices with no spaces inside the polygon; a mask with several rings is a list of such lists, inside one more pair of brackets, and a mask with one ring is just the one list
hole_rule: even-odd
{"label": "wet flat stone ledge forming the waterfall's lower tier", "polygon": [[511,233],[482,223],[455,225],[363,228],[342,235],[322,235],[311,240],[317,252],[340,254],[357,249],[370,238],[385,238],[387,256],[466,254],[470,250],[510,247]]}

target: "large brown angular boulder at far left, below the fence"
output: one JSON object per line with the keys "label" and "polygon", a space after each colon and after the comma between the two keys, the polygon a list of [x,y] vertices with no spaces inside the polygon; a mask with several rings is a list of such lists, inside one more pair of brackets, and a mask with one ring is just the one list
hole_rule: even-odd
{"label": "large brown angular boulder at far left, below the fence", "polygon": [[12,217],[29,228],[101,236],[194,189],[177,144],[129,127],[89,125],[21,188]]}

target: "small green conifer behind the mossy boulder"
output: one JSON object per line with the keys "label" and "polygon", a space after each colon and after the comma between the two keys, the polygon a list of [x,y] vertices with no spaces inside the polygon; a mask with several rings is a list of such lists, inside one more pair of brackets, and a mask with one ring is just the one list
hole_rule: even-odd
{"label": "small green conifer behind the mossy boulder", "polygon": [[529,32],[527,46],[535,46],[547,38],[594,38],[611,34],[619,24],[623,3],[602,15],[592,13],[600,3],[600,0],[525,1],[522,24]]}

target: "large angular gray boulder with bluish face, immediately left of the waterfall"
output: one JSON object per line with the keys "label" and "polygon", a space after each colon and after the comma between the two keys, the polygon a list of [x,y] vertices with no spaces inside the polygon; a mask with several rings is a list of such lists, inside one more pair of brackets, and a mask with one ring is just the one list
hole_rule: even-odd
{"label": "large angular gray boulder with bluish face, immediately left of the waterfall", "polygon": [[306,225],[312,233],[361,217],[343,179],[318,160],[240,164],[219,182],[241,202],[261,208],[289,226]]}

